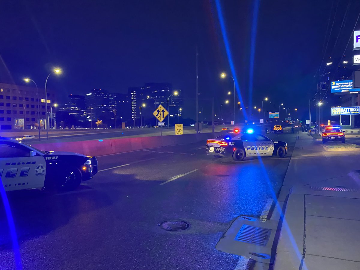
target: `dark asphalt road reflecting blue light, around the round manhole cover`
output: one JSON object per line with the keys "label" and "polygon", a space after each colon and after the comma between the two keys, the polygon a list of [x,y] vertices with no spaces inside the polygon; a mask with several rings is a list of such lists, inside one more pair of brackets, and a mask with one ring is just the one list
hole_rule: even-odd
{"label": "dark asphalt road reflecting blue light, around the round manhole cover", "polygon": [[[288,143],[283,159],[234,162],[207,155],[204,142],[175,145],[98,157],[98,174],[73,192],[8,193],[23,269],[234,269],[239,256],[216,243],[279,194],[289,131],[267,134]],[[2,206],[0,217],[0,269],[15,269]],[[166,220],[191,228],[160,229]]]}

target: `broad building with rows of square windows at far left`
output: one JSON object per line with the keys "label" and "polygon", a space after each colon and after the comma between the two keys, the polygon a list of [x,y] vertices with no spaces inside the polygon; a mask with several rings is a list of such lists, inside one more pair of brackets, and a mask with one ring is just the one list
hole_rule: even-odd
{"label": "broad building with rows of square windows at far left", "polygon": [[[55,101],[53,91],[35,87],[0,83],[0,129],[33,129],[46,128],[46,109],[50,112]],[[39,104],[39,105],[38,105]]]}

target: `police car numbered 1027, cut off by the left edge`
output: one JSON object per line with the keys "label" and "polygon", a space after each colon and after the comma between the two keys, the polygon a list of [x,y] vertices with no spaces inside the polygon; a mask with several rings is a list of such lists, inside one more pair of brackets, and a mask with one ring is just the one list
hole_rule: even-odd
{"label": "police car numbered 1027, cut off by the left edge", "polygon": [[41,151],[0,138],[0,178],[5,191],[31,188],[75,189],[98,172],[95,157],[71,152]]}

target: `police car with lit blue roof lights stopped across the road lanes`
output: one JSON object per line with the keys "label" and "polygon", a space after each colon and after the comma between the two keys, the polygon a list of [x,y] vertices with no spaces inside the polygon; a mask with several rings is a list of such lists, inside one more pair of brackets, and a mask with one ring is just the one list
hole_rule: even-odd
{"label": "police car with lit blue roof lights stopped across the road lanes", "polygon": [[252,156],[285,157],[288,151],[287,143],[275,141],[264,135],[254,133],[253,129],[246,132],[229,132],[215,139],[206,141],[206,152],[216,157],[232,157],[242,161]]}

